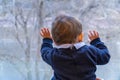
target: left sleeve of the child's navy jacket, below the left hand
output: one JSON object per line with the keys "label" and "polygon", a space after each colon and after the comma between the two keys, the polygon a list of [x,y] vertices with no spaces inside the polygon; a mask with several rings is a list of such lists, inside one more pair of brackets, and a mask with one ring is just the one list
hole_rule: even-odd
{"label": "left sleeve of the child's navy jacket, below the left hand", "polygon": [[52,64],[52,51],[53,51],[52,43],[53,43],[52,39],[44,38],[40,50],[42,59],[49,65]]}

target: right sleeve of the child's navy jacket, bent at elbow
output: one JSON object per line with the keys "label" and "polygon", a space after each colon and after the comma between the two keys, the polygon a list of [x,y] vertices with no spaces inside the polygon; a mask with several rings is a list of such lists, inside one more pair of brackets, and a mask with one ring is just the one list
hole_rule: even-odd
{"label": "right sleeve of the child's navy jacket, bent at elbow", "polygon": [[103,65],[109,62],[110,54],[107,47],[101,42],[100,38],[97,38],[90,43],[94,49],[96,55],[96,64]]}

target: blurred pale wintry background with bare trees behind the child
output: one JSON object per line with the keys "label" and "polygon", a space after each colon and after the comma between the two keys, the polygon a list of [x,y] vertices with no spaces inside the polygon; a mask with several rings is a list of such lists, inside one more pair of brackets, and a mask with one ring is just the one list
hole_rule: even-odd
{"label": "blurred pale wintry background with bare trees behind the child", "polygon": [[0,80],[50,80],[52,69],[40,57],[41,27],[58,14],[78,18],[87,41],[97,30],[111,60],[97,76],[120,80],[120,0],[0,0]]}

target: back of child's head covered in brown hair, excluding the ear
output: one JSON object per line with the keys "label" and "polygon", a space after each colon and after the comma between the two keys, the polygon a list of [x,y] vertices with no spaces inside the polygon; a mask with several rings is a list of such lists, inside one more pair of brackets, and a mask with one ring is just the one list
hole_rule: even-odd
{"label": "back of child's head covered in brown hair, excluding the ear", "polygon": [[57,45],[76,43],[82,33],[82,25],[74,17],[60,15],[53,21],[51,33]]}

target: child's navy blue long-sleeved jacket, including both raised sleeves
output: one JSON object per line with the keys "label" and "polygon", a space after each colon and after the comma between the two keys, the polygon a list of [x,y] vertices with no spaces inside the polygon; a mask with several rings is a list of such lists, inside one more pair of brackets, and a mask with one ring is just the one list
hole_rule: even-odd
{"label": "child's navy blue long-sleeved jacket, including both raised sleeves", "polygon": [[52,80],[96,80],[96,65],[106,64],[110,59],[100,38],[79,49],[53,48],[52,43],[51,39],[44,38],[41,46],[43,60],[54,70]]}

